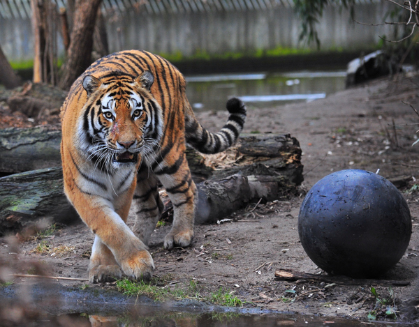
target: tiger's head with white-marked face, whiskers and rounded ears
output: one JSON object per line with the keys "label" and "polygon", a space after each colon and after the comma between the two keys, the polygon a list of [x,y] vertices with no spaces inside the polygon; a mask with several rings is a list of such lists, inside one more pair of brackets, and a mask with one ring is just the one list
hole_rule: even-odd
{"label": "tiger's head with white-marked face, whiskers and rounded ears", "polygon": [[150,91],[153,82],[148,70],[135,79],[84,77],[87,102],[79,123],[85,136],[82,149],[98,167],[137,165],[158,146],[163,119]]}

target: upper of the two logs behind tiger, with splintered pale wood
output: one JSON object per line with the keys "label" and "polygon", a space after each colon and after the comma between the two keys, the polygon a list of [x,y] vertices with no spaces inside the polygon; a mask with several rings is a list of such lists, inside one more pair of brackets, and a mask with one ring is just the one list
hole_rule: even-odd
{"label": "upper of the two logs behind tiger, with splintered pale wood", "polygon": [[[57,129],[7,128],[0,130],[0,173],[19,173],[61,165],[61,131]],[[186,151],[196,182],[210,176],[282,176],[284,188],[303,181],[301,149],[289,134],[240,135],[235,146],[216,155]]]}

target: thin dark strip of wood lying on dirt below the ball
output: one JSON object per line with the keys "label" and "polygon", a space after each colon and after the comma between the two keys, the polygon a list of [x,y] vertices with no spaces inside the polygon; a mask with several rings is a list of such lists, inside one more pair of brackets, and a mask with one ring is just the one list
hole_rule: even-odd
{"label": "thin dark strip of wood lying on dirt below the ball", "polygon": [[286,282],[295,282],[296,280],[305,280],[307,282],[328,282],[339,285],[380,285],[380,286],[407,286],[410,284],[407,280],[374,280],[374,279],[353,279],[346,276],[332,275],[314,275],[312,273],[300,273],[291,269],[280,269],[275,271],[277,280]]}

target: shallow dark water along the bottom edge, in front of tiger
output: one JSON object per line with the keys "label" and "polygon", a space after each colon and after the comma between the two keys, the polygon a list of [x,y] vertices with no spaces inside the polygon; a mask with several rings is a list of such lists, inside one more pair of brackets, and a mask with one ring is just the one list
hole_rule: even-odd
{"label": "shallow dark water along the bottom edge, in front of tiger", "polygon": [[[367,324],[383,326],[383,322]],[[0,326],[358,327],[365,324],[366,321],[274,312],[251,305],[220,307],[188,299],[155,303],[145,296],[127,297],[112,290],[59,284],[11,285],[0,289]]]}

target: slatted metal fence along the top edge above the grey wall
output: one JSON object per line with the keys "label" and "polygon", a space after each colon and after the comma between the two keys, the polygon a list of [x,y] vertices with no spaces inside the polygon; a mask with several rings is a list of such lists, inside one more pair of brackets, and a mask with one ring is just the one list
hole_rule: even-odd
{"label": "slatted metal fence along the top edge above the grey wall", "polygon": [[[380,3],[383,0],[356,0],[355,3]],[[66,7],[66,0],[52,0],[58,8]],[[103,13],[123,13],[135,10],[142,15],[178,13],[216,13],[223,11],[269,10],[294,6],[293,0],[103,0]],[[0,17],[31,17],[31,0],[0,0]]]}

